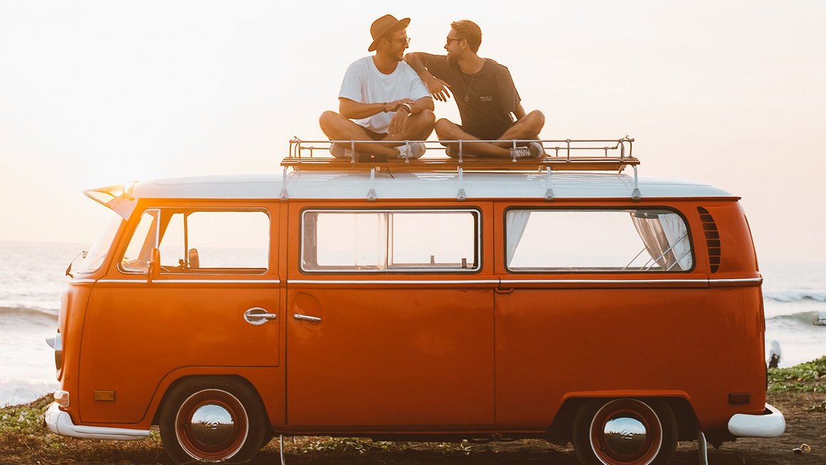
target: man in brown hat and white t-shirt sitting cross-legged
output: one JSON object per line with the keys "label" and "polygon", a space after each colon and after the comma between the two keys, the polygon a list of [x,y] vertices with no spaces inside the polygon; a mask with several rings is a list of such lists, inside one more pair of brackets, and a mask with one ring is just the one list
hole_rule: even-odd
{"label": "man in brown hat and white t-shirt sitting cross-legged", "polygon": [[[324,112],[319,119],[330,140],[387,140],[355,144],[358,154],[387,158],[417,159],[425,153],[420,142],[399,142],[427,139],[435,121],[430,92],[403,59],[410,21],[391,15],[373,21],[368,51],[376,54],[350,64],[339,91],[339,113]],[[333,144],[330,153],[348,159],[354,155],[345,144]]]}

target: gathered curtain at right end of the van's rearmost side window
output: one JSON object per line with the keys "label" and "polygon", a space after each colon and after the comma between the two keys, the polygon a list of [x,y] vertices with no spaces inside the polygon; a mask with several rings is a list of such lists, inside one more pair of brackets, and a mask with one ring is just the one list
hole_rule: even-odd
{"label": "gathered curtain at right end of the van's rearmost side window", "polygon": [[667,271],[691,269],[691,245],[686,223],[676,213],[632,211],[631,221],[648,254]]}

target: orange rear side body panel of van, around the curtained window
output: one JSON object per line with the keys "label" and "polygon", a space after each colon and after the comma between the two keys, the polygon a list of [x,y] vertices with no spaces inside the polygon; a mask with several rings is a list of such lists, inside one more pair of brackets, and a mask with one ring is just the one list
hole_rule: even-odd
{"label": "orange rear side body panel of van, around the curtained window", "polygon": [[[520,202],[497,202],[504,218]],[[496,423],[545,429],[570,396],[673,395],[683,392],[700,424],[724,429],[738,412],[763,410],[762,297],[757,282],[709,285],[709,279],[759,278],[737,202],[553,202],[539,208],[667,206],[689,227],[695,267],[685,273],[510,273],[496,241]],[[697,206],[713,211],[724,267],[710,274]],[[505,236],[496,221],[496,237]],[[562,238],[549,236],[549,246]],[[719,276],[718,276],[719,275]],[[508,284],[508,280],[542,281]],[[688,282],[667,282],[666,280]],[[557,281],[569,281],[553,282]],[[571,283],[577,280],[577,283]],[[632,282],[605,282],[631,280]],[[747,406],[729,393],[748,392]]]}

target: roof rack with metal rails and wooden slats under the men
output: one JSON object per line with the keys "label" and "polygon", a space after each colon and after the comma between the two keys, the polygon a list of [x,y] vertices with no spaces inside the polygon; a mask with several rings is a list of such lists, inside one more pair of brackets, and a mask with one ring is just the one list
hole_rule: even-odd
{"label": "roof rack with metal rails and wooden slats under the men", "polygon": [[[508,140],[514,147],[537,140]],[[400,144],[423,142],[425,155],[420,159],[357,159],[355,150],[350,159],[335,158],[330,154],[332,145],[340,144],[354,149],[355,144],[377,144],[380,141],[356,140],[301,140],[293,137],[290,150],[281,165],[286,168],[307,171],[376,171],[429,172],[452,171],[461,168],[464,172],[535,171],[548,169],[574,171],[614,171],[622,173],[626,166],[636,171],[639,160],[632,154],[634,139],[624,136],[620,139],[564,139],[539,140],[546,156],[541,159],[491,159],[463,156],[464,146],[474,140],[398,140]],[[382,141],[383,142],[383,141]],[[444,152],[442,142],[459,145],[458,157],[450,158]],[[478,142],[478,141],[476,141]],[[483,142],[492,142],[483,140]],[[496,142],[502,142],[498,140]],[[440,152],[440,153],[439,153]],[[433,156],[431,156],[433,154]]]}

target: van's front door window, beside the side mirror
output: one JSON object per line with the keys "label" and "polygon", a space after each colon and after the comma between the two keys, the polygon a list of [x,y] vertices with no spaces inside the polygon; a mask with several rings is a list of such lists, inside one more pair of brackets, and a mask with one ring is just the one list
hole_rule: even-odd
{"label": "van's front door window, beside the side mirror", "polygon": [[[147,211],[121,269],[145,273],[159,235],[161,273],[263,273],[269,260],[269,216],[263,211]],[[159,221],[154,221],[159,216]],[[146,224],[146,225],[145,225]],[[156,224],[159,230],[156,233]],[[142,245],[141,245],[142,244]],[[140,254],[132,250],[140,250]],[[132,256],[138,260],[131,259]]]}

